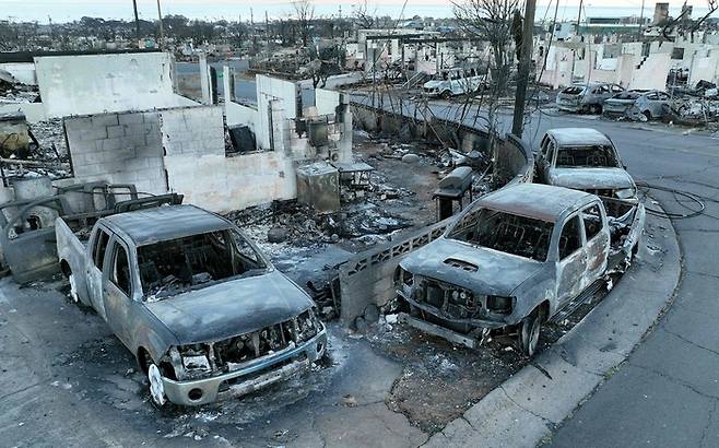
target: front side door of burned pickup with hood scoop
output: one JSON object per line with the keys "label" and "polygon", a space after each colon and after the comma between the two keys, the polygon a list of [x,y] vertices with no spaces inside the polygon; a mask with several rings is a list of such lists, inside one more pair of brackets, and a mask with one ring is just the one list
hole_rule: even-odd
{"label": "front side door of burned pickup with hood scoop", "polygon": [[579,295],[585,286],[587,250],[584,227],[578,213],[568,217],[557,240],[557,300],[564,306]]}

